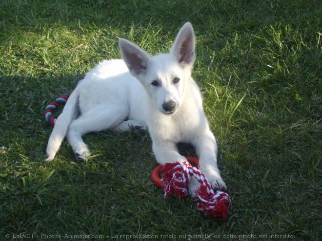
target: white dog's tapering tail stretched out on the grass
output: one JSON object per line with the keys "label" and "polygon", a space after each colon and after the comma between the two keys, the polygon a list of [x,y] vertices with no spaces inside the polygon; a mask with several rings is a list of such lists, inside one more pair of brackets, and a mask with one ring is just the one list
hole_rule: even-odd
{"label": "white dog's tapering tail stretched out on the grass", "polygon": [[62,140],[66,135],[67,128],[70,122],[78,115],[78,93],[77,88],[69,96],[62,113],[57,118],[53,131],[50,134],[47,145],[47,159],[45,161],[52,161],[58,151]]}

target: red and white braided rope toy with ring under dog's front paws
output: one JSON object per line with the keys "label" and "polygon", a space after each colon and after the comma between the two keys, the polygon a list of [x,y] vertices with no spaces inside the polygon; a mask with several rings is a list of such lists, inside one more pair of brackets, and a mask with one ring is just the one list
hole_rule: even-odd
{"label": "red and white braided rope toy with ring under dog's front paws", "polygon": [[[198,165],[197,158],[186,158],[190,163]],[[188,183],[191,177],[195,177],[201,184],[193,195],[193,198],[198,201],[197,209],[209,218],[226,220],[228,207],[231,203],[229,195],[219,190],[215,192],[204,174],[189,162],[159,165],[151,174],[152,182],[163,188],[164,197],[176,195],[179,198],[185,198],[188,195]],[[161,180],[159,175],[162,172]]]}

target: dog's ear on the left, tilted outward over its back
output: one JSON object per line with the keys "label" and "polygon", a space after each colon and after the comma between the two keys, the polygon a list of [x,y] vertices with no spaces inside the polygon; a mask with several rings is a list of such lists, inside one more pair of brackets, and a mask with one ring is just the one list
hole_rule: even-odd
{"label": "dog's ear on the left, tilted outward over its back", "polygon": [[122,59],[127,65],[130,73],[135,77],[144,74],[150,60],[149,54],[124,38],[119,39],[119,47]]}

